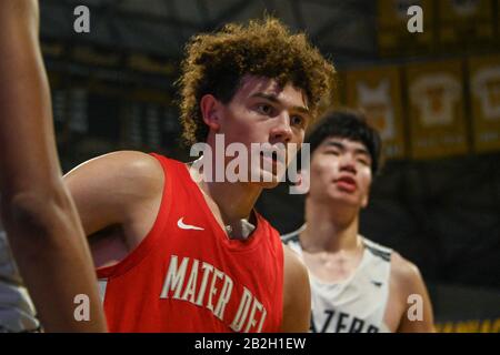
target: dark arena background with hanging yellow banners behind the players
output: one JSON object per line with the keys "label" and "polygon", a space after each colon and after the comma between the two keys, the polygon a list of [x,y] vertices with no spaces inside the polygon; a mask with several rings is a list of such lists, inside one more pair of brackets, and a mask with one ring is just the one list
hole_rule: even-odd
{"label": "dark arena background with hanging yellow banners behind the players", "polygon": [[[90,10],[77,33],[74,9]],[[423,32],[407,9],[423,9]],[[336,105],[384,138],[361,232],[421,270],[440,332],[500,332],[500,4],[494,0],[41,0],[64,172],[114,150],[189,160],[174,81],[186,41],[267,12],[307,31],[339,71]],[[259,209],[302,223],[287,186]]]}

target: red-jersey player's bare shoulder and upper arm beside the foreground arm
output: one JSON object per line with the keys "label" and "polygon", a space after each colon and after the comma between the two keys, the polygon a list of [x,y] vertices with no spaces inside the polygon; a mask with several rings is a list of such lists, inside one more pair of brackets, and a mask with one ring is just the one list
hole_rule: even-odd
{"label": "red-jersey player's bare shoulder and upper arm beside the foreground arm", "polygon": [[64,175],[86,235],[119,226],[127,241],[140,243],[154,223],[164,173],[153,156],[120,151],[92,159]]}

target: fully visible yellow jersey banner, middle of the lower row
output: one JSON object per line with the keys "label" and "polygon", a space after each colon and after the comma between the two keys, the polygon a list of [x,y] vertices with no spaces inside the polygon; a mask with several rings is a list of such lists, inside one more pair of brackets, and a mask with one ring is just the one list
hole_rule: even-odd
{"label": "fully visible yellow jersey banner, middle of the lower row", "polygon": [[468,151],[460,61],[407,69],[411,155],[442,158]]}

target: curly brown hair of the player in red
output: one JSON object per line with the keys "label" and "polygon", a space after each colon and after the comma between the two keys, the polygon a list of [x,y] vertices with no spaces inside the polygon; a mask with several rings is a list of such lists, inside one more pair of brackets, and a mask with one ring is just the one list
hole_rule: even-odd
{"label": "curly brown hair of the player in red", "polygon": [[333,65],[304,33],[291,34],[274,18],[251,20],[247,26],[231,23],[219,32],[194,36],[186,52],[178,84],[188,144],[206,141],[209,132],[201,116],[201,98],[210,93],[224,104],[230,102],[246,74],[303,90],[313,115],[318,114],[320,100],[331,97]]}

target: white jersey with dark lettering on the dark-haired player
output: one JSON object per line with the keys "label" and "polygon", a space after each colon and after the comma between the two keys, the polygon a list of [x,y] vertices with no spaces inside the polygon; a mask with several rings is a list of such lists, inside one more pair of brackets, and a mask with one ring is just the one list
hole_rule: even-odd
{"label": "white jersey with dark lettering on the dark-haired player", "polygon": [[[296,232],[282,236],[301,258],[302,247]],[[309,271],[311,284],[312,333],[389,333],[383,322],[389,298],[391,250],[362,237],[364,250],[352,275],[339,283],[318,280]]]}

